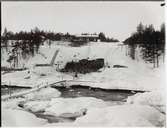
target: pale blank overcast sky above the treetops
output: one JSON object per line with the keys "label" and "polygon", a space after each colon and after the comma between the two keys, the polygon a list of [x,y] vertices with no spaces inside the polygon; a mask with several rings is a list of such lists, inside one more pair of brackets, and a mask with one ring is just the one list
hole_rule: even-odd
{"label": "pale blank overcast sky above the treetops", "polygon": [[2,2],[2,31],[104,32],[124,40],[136,26],[165,21],[162,2]]}

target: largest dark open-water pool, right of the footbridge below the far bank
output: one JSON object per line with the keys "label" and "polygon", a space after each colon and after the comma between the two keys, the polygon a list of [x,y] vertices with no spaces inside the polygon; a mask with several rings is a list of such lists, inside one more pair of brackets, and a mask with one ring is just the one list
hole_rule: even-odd
{"label": "largest dark open-water pool, right of the footbridge below the far bank", "polygon": [[59,90],[64,98],[95,97],[104,101],[125,101],[128,96],[134,95],[130,90],[108,90],[81,85],[53,88]]}

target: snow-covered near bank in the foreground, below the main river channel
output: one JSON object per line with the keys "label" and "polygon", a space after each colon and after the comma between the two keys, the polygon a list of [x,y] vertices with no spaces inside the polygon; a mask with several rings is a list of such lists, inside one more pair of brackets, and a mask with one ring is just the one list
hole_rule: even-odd
{"label": "snow-covered near bank in the foreground, below the main river channel", "polygon": [[[158,97],[155,98],[154,96]],[[144,97],[144,99],[143,99]],[[137,99],[137,100],[136,100]],[[149,99],[149,102],[147,100]],[[159,99],[159,100],[158,100]],[[124,105],[113,105],[92,97],[52,98],[44,101],[18,99],[2,104],[2,126],[165,126],[165,97],[153,91],[129,97]],[[24,101],[24,110],[17,104]],[[159,106],[161,105],[161,106]],[[75,116],[74,122],[48,123],[26,110],[53,116]],[[17,114],[16,114],[17,113]],[[85,113],[85,114],[84,114]]]}

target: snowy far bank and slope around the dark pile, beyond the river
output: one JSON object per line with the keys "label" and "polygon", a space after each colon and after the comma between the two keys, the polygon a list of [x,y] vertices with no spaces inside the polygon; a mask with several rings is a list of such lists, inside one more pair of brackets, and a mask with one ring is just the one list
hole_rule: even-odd
{"label": "snowy far bank and slope around the dark pile, beyond the river", "polygon": [[[36,67],[34,64],[50,63],[54,52],[60,49],[55,63],[59,63],[59,68],[63,68],[69,61],[78,61],[80,59],[96,59],[104,58],[105,67],[101,72],[88,73],[86,75],[79,74],[78,81],[92,81],[94,83],[88,86],[110,88],[110,89],[130,89],[130,90],[159,90],[165,86],[165,70],[162,65],[158,69],[153,69],[149,64],[145,64],[138,56],[138,60],[132,60],[126,56],[126,46],[118,43],[100,43],[92,42],[82,47],[67,47],[62,45],[41,46],[40,54],[30,58],[26,66],[31,69],[28,71],[19,71],[2,75],[2,83],[17,86],[36,86],[37,84],[52,83],[60,80],[73,80],[73,74],[64,74],[56,71],[57,67]],[[139,61],[140,60],[140,61]],[[112,68],[113,65],[124,65],[128,68]],[[46,74],[40,76],[39,74]],[[30,76],[30,79],[26,79]]]}

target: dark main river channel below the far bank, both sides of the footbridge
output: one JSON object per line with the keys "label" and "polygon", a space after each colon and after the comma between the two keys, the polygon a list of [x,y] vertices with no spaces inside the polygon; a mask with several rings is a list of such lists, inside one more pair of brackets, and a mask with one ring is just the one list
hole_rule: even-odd
{"label": "dark main river channel below the far bank, both sides of the footbridge", "polygon": [[[81,85],[73,85],[70,87],[52,86],[52,88],[59,90],[61,92],[61,97],[64,98],[95,97],[104,101],[125,101],[128,96],[137,93],[132,93],[130,90],[101,89]],[[31,89],[31,87],[1,85],[1,95],[9,95],[27,89]]]}

